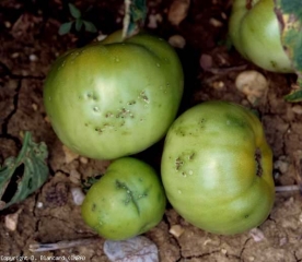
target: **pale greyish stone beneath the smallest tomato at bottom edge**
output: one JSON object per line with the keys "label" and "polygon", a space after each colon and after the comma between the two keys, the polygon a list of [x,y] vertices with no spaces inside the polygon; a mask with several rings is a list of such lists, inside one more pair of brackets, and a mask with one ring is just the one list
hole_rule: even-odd
{"label": "pale greyish stone beneath the smallest tomato at bottom edge", "polygon": [[143,236],[121,241],[106,240],[104,253],[112,262],[159,262],[158,247]]}

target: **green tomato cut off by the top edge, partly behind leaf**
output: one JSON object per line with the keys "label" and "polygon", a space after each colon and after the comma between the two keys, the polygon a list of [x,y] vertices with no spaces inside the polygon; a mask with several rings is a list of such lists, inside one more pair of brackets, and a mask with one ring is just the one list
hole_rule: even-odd
{"label": "green tomato cut off by the top edge, partly behind leaf", "polygon": [[256,66],[272,72],[293,72],[281,45],[274,0],[234,0],[229,33],[236,50]]}

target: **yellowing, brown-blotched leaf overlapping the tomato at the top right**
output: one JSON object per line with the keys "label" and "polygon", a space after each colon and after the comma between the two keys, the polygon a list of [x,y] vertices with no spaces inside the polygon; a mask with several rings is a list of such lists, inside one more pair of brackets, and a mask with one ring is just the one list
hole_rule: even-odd
{"label": "yellowing, brown-blotched leaf overlapping the tomato at the top right", "polygon": [[[279,22],[281,44],[298,75],[302,88],[302,9],[301,0],[275,0],[275,12]],[[287,95],[288,102],[301,102],[302,91],[294,90]]]}

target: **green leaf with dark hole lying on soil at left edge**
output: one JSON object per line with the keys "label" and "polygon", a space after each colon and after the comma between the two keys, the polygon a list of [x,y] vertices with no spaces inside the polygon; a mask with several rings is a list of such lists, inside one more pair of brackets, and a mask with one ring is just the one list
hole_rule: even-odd
{"label": "green leaf with dark hole lying on soil at left edge", "polygon": [[7,158],[0,166],[0,210],[25,200],[46,181],[47,156],[46,144],[34,143],[32,134],[25,132],[19,155]]}

